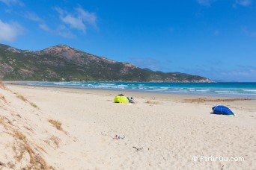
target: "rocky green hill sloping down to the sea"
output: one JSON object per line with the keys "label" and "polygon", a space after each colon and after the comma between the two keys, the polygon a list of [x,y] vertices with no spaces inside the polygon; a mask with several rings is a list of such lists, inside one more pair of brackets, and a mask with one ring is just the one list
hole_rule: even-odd
{"label": "rocky green hill sloping down to the sea", "polygon": [[198,75],[141,69],[67,45],[28,51],[0,44],[0,78],[4,81],[211,82]]}

